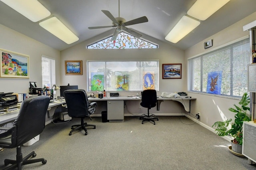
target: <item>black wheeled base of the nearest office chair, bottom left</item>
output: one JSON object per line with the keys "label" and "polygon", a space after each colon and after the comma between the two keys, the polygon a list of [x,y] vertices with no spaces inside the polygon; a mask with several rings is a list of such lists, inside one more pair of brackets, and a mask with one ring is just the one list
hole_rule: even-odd
{"label": "black wheeled base of the nearest office chair, bottom left", "polygon": [[33,151],[24,158],[22,158],[22,152],[21,152],[21,147],[18,146],[16,148],[17,154],[16,154],[16,160],[10,160],[10,159],[5,159],[4,160],[4,165],[7,166],[8,164],[12,164],[11,166],[8,166],[4,170],[12,170],[14,168],[18,168],[18,170],[21,170],[22,165],[27,165],[27,164],[33,164],[36,162],[42,162],[42,164],[46,164],[47,160],[44,158],[38,158],[38,159],[32,159],[28,160],[31,156],[34,158],[36,156],[36,153]]}

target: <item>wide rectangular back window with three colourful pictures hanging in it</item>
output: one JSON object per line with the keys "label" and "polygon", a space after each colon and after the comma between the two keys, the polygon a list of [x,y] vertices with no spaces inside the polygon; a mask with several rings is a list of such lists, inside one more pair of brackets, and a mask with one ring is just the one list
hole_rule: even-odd
{"label": "wide rectangular back window with three colourful pictures hanging in it", "polygon": [[87,82],[87,91],[158,91],[159,61],[87,61]]}

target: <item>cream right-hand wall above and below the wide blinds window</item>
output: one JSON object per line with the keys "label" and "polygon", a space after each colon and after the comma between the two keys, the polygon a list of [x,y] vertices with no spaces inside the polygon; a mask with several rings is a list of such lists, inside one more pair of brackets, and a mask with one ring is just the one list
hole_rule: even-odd
{"label": "cream right-hand wall above and below the wide blinds window", "polygon": [[[196,56],[205,51],[212,50],[218,46],[224,45],[226,43],[238,40],[245,36],[249,37],[249,32],[243,31],[243,26],[254,21],[256,18],[256,13],[251,14],[250,16],[240,20],[239,22],[233,24],[232,26],[218,32],[206,38],[202,42],[190,47],[185,51],[185,60],[187,64],[187,59],[193,56]],[[213,40],[213,46],[204,49],[204,42],[207,40]],[[187,67],[187,66],[186,66]],[[187,83],[186,83],[187,84]],[[199,93],[188,93],[189,95],[196,97],[196,103],[192,105],[192,113],[200,112],[199,123],[203,126],[206,126],[210,130],[213,130],[212,125],[216,121],[222,121],[228,119],[234,119],[234,114],[228,111],[228,108],[233,107],[233,104],[238,104],[238,99],[229,99],[224,97],[218,97],[214,95],[206,95]]]}

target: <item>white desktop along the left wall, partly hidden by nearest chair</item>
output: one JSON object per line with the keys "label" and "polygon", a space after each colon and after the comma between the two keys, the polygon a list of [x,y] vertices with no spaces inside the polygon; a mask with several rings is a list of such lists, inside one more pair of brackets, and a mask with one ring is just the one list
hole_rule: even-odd
{"label": "white desktop along the left wall, partly hidden by nearest chair", "polygon": [[[64,103],[66,103],[66,101],[49,103],[48,110],[50,110],[52,107],[62,105]],[[18,110],[18,111],[14,111],[14,112],[11,112],[11,113],[6,113],[4,115],[0,115],[0,125],[5,124],[5,123],[10,122],[10,121],[14,121],[17,118],[19,112],[20,111]]]}

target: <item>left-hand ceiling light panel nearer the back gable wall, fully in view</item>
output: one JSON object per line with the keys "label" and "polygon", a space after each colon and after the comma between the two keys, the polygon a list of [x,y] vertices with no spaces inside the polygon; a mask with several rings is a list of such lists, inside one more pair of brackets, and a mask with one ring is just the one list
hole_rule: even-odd
{"label": "left-hand ceiling light panel nearer the back gable wall, fully in view", "polygon": [[79,38],[55,16],[48,20],[39,22],[39,25],[67,44],[71,44],[79,40]]}

